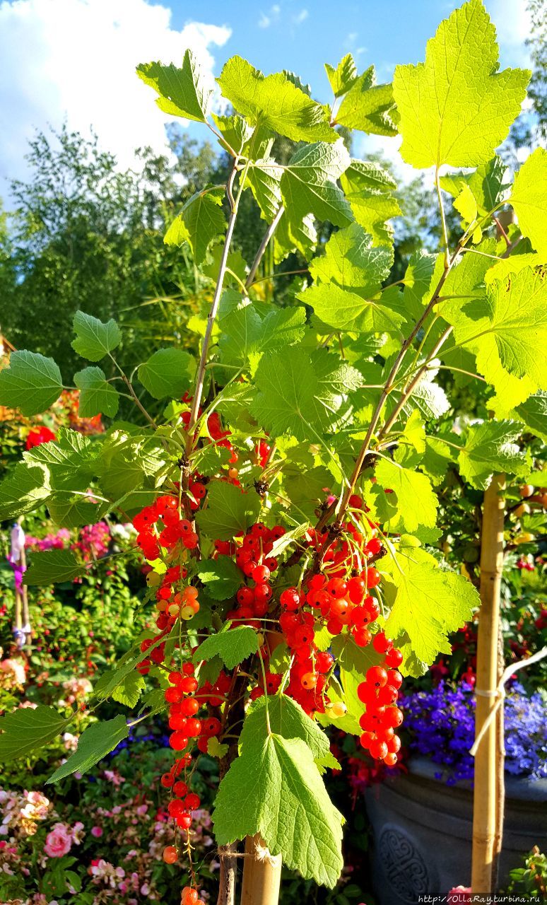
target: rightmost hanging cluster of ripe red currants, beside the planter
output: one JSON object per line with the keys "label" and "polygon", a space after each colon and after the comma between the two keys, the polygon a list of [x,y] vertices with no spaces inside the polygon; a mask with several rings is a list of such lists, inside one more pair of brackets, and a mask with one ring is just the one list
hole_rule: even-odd
{"label": "rightmost hanging cluster of ripe red currants, beside the planter", "polygon": [[359,719],[363,729],[360,741],[371,757],[383,760],[386,767],[394,767],[401,748],[401,738],[395,735],[395,729],[402,722],[402,710],[397,707],[402,684],[397,667],[401,666],[402,653],[383,632],[374,635],[373,648],[383,654],[383,665],[369,667],[365,680],[357,686],[359,700],[366,707]]}

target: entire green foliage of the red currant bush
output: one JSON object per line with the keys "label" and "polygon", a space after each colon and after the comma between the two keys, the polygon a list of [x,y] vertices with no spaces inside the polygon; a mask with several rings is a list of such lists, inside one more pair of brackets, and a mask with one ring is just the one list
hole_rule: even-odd
{"label": "entire green foliage of the red currant bush", "polygon": [[[197,266],[218,272],[201,359],[180,348],[158,349],[134,363],[134,385],[112,354],[121,338],[117,323],[79,312],[72,346],[93,363],[74,376],[82,414],[115,418],[120,386],[146,424],[114,421],[92,441],[66,431],[56,443],[25,453],[0,484],[0,518],[45,503],[58,524],[75,527],[91,513],[93,519],[115,510],[131,515],[164,491],[180,494],[189,512],[188,475],[199,473],[208,493],[196,519],[198,556],[207,565],[191,567],[203,605],[184,633],[190,641],[196,629],[212,634],[201,659],[213,671],[215,662],[232,669],[259,647],[253,628],[226,631],[219,621],[236,586],[233,575],[212,566],[215,540],[231,540],[257,519],[285,524],[288,533],[275,553],[277,599],[281,587],[299,584],[307,571],[302,538],[317,521],[330,524],[334,536],[345,519],[364,535],[381,525],[387,555],[379,564],[380,624],[401,648],[401,671],[420,675],[439,652],[449,653],[448,633],[467,621],[477,595],[439,549],[436,488],[449,468],[476,491],[485,490],[494,472],[524,477],[533,462],[523,435],[544,439],[547,200],[539,186],[547,153],[535,151],[514,186],[505,185],[495,148],[520,110],[529,73],[497,68],[495,30],[481,0],[452,13],[428,43],[425,62],[398,66],[392,86],[376,85],[373,68],[359,75],[350,56],[327,67],[335,94],[330,109],[292,73],[264,76],[234,57],[218,80],[234,112],[221,117],[212,112],[212,91],[191,52],[180,68],[139,66],[160,109],[207,124],[232,159],[227,186],[196,191],[165,235],[169,245],[190,247]],[[393,182],[382,167],[352,159],[337,127],[386,137],[399,132],[402,158],[419,169],[434,167],[442,221],[443,188],[461,216],[455,247],[447,239],[438,255],[415,254],[402,281],[387,283],[388,221],[399,213]],[[298,143],[287,162],[272,156],[276,135]],[[474,171],[441,183],[445,165]],[[254,262],[230,252],[240,199],[249,191],[266,224]],[[495,214],[505,205],[519,226],[497,236]],[[334,231],[327,243],[317,243],[317,224],[325,223]],[[295,250],[307,260],[307,274],[294,281],[283,307],[262,300],[257,289],[268,242],[275,262]],[[103,359],[116,376],[96,364]],[[483,417],[461,433],[450,424],[446,370],[481,386]],[[14,353],[0,372],[0,404],[24,414],[52,405],[61,388],[59,368],[33,352]],[[178,401],[188,392],[190,413]],[[146,412],[150,398],[169,400],[161,418]],[[211,443],[213,412],[237,451],[239,486],[231,453]],[[189,415],[182,424],[181,414]],[[266,462],[256,452],[260,441],[271,444]],[[356,489],[364,507],[348,510]],[[52,551],[33,557],[26,581],[71,580],[85,568],[70,552]],[[358,733],[363,708],[356,687],[367,653],[349,634],[333,639],[319,623],[317,629],[317,646],[331,648],[337,660],[339,678],[332,678],[329,693],[347,706],[338,725]],[[117,700],[137,705],[145,689],[135,673],[144,658],[138,651],[136,645],[99,681],[98,700],[117,693]],[[151,692],[143,707],[155,710],[161,700]],[[8,715],[0,755],[21,756],[66,725],[54,710]],[[87,730],[77,754],[52,778],[84,772],[127,731],[123,718]],[[259,832],[288,866],[334,885],[342,867],[342,815],[320,776],[333,766],[322,731],[293,701],[270,696],[248,710],[236,754],[216,800],[217,842]]]}

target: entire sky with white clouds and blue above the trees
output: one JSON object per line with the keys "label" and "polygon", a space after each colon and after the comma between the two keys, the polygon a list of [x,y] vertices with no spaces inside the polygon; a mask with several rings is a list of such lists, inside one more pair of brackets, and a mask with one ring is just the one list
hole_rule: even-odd
{"label": "entire sky with white clouds and blue above the trees", "polygon": [[[485,0],[497,30],[502,67],[526,65],[526,0]],[[330,91],[324,62],[354,53],[391,81],[398,62],[424,59],[425,45],[453,0],[0,0],[0,197],[24,177],[35,129],[65,120],[87,133],[121,167],[145,144],[165,149],[165,124],[135,75],[138,62],[178,62],[191,47],[212,79],[234,53],[265,72],[297,71],[318,100]],[[192,135],[202,135],[195,125]],[[397,139],[363,138],[354,151]],[[401,174],[404,176],[404,174]]]}

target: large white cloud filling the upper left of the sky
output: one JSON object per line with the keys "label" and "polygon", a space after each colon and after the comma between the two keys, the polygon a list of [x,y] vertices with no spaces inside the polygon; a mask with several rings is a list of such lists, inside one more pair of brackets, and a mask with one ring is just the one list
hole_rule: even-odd
{"label": "large white cloud filling the upper left of the sky", "polygon": [[[171,27],[171,10],[146,0],[5,0],[0,3],[0,174],[24,175],[34,129],[97,131],[121,167],[135,148],[165,150],[166,117],[135,73],[139,62],[180,62],[187,47],[212,81],[210,48],[227,26]],[[183,120],[178,119],[178,122]]]}

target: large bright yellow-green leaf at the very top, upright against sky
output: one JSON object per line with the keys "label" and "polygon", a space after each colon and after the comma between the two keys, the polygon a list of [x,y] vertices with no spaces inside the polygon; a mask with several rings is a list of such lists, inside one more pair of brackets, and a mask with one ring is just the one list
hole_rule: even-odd
{"label": "large bright yellow-green leaf at the very top, upright against sky", "polygon": [[526,70],[497,69],[495,27],[482,0],[469,0],[439,25],[425,63],[395,68],[403,160],[420,168],[487,163],[530,79]]}

